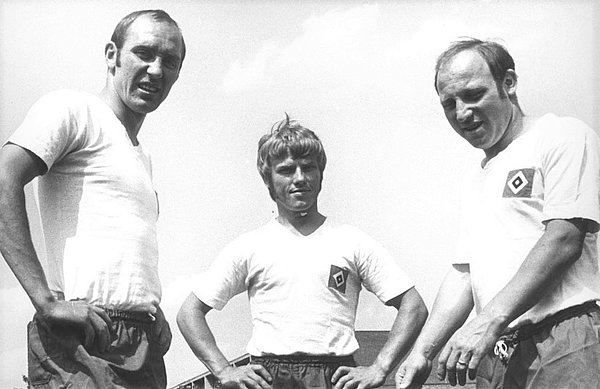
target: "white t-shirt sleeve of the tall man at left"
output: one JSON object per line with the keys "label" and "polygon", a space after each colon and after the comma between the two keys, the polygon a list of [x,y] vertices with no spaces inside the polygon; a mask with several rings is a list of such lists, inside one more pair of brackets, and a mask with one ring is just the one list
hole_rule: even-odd
{"label": "white t-shirt sleeve of the tall man at left", "polygon": [[64,91],[45,95],[32,105],[6,143],[31,151],[50,169],[84,137],[85,129],[76,125],[78,114],[71,100],[73,97]]}

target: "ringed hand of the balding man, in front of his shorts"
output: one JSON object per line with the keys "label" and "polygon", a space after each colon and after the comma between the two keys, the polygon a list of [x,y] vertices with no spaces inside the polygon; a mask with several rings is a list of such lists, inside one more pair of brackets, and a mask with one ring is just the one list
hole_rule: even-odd
{"label": "ringed hand of the balding man, in front of his shorts", "polygon": [[465,385],[475,379],[481,359],[492,350],[502,328],[481,314],[456,331],[438,357],[437,376],[446,376],[450,385]]}

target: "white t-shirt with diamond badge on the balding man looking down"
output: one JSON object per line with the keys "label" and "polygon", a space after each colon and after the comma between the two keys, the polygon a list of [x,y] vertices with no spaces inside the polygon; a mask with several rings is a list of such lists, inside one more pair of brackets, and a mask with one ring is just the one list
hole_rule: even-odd
{"label": "white t-shirt with diamond badge on the balding man looking down", "polygon": [[600,298],[600,142],[583,122],[548,114],[469,176],[454,263],[469,263],[479,312],[516,274],[552,219],[592,221],[559,285],[510,327]]}

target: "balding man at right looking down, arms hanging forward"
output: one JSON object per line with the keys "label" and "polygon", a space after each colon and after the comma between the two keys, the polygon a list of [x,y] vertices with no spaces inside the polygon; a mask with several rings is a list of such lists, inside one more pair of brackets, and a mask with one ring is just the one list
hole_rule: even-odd
{"label": "balding man at right looking down, arms hanging forward", "polygon": [[573,118],[526,116],[514,61],[494,42],[451,45],[435,87],[452,128],[485,158],[465,183],[457,255],[397,386],[420,387],[445,344],[437,373],[453,385],[468,374],[478,388],[599,387],[597,135]]}

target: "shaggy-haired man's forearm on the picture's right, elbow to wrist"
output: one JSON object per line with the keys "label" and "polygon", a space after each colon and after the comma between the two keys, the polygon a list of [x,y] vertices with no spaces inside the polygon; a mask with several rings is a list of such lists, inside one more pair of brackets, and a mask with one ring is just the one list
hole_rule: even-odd
{"label": "shaggy-haired man's forearm on the picture's right, elbow to wrist", "polygon": [[398,309],[386,343],[373,362],[386,376],[410,350],[427,319],[427,307],[415,288],[409,289],[399,301],[392,303]]}

